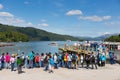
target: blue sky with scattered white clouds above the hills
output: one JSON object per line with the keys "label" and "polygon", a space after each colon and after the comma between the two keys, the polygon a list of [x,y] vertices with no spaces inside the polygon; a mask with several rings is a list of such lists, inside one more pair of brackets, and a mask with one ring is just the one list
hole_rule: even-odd
{"label": "blue sky with scattered white clouds above the hills", "polygon": [[120,0],[0,0],[0,23],[71,36],[120,33]]}

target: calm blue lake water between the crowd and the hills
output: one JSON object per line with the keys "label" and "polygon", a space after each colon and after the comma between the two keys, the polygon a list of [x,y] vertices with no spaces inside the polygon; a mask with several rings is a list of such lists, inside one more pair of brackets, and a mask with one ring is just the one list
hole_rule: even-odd
{"label": "calm blue lake water between the crowd and the hills", "polygon": [[[50,46],[51,41],[40,41],[40,42],[17,42],[13,43],[15,46],[5,46],[0,47],[0,53],[6,53],[9,52],[12,53],[22,53],[25,54],[30,53],[31,51],[34,51],[35,53],[55,53],[58,51],[58,46]],[[65,41],[56,41],[56,43],[59,46],[63,46],[66,42]],[[69,44],[72,44],[74,42],[70,42]]]}

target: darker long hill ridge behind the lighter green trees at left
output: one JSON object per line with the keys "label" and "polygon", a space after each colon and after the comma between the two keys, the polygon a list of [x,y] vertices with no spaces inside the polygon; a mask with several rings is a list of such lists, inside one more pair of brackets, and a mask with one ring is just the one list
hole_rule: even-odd
{"label": "darker long hill ridge behind the lighter green trees at left", "polygon": [[[0,32],[19,32],[28,36],[29,41],[65,41],[73,40],[78,41],[82,40],[70,35],[61,35],[52,32],[47,32],[42,29],[37,29],[34,27],[17,27],[0,24]],[[12,34],[13,35],[13,34]],[[17,40],[18,41],[18,40]]]}

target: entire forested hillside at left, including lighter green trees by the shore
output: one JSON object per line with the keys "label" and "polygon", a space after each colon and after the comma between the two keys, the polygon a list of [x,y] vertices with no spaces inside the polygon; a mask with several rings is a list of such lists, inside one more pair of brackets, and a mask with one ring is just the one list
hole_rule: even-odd
{"label": "entire forested hillside at left, including lighter green trees by the shore", "polygon": [[0,42],[18,41],[64,41],[80,40],[78,38],[59,35],[33,27],[15,27],[0,24]]}

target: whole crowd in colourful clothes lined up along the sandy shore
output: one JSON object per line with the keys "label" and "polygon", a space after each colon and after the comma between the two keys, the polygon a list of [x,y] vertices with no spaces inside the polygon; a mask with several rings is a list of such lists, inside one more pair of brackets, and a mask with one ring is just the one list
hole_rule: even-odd
{"label": "whole crowd in colourful clothes lined up along the sandy shore", "polygon": [[[114,64],[114,53],[109,53],[110,63]],[[11,71],[18,70],[18,73],[22,72],[22,68],[40,68],[43,67],[45,71],[53,73],[54,69],[59,67],[68,69],[98,69],[98,67],[104,67],[106,64],[106,55],[104,52],[89,54],[76,54],[72,52],[63,52],[62,54],[52,53],[35,53],[30,52],[25,55],[21,54],[2,53],[0,56],[0,70],[11,69]]]}

